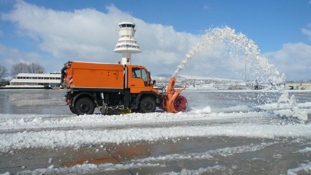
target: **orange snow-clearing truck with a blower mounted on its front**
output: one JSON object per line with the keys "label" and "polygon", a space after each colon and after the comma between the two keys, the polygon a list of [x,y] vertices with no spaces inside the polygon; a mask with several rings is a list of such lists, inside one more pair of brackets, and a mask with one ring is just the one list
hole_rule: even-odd
{"label": "orange snow-clearing truck with a blower mounted on its front", "polygon": [[66,104],[77,115],[92,114],[96,107],[103,114],[148,113],[156,107],[185,111],[187,99],[179,94],[187,84],[175,90],[175,81],[170,78],[167,91],[159,93],[143,66],[69,61],[61,70]]}

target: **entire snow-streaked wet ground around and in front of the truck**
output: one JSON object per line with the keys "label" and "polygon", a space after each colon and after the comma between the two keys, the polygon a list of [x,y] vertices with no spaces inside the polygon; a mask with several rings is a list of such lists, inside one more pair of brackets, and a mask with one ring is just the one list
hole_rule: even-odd
{"label": "entire snow-streaked wet ground around and in front of the truck", "polygon": [[111,116],[70,114],[62,93],[0,92],[0,173],[311,172],[310,92],[185,91],[186,112]]}

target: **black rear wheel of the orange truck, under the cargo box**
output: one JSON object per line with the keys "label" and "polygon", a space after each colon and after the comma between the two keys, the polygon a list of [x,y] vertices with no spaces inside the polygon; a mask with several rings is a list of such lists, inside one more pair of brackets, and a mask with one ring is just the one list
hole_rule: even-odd
{"label": "black rear wheel of the orange truck, under the cargo box", "polygon": [[78,116],[84,114],[87,115],[93,114],[94,110],[95,110],[94,102],[87,97],[80,98],[75,105],[75,112]]}

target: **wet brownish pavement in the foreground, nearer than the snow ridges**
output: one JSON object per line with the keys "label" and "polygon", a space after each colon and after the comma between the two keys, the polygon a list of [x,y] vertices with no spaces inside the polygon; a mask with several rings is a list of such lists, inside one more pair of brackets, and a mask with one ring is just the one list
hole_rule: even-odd
{"label": "wet brownish pavement in the foreground, nearer than the snow ridges", "polygon": [[[165,172],[180,172],[182,169],[199,169],[201,167],[213,167],[215,165],[230,167],[233,174],[286,174],[290,168],[295,168],[297,162],[310,160],[310,155],[299,155],[297,149],[311,146],[311,143],[293,144],[290,139],[286,142],[270,146],[255,152],[242,152],[228,156],[216,155],[211,159],[202,160],[162,160],[159,161],[165,167],[131,168],[125,170],[105,171],[104,174],[157,174]],[[204,153],[207,151],[223,148],[232,148],[243,145],[255,145],[269,143],[273,140],[230,138],[230,137],[192,137],[181,138],[179,141],[165,140],[155,143],[137,142],[130,144],[105,144],[86,145],[80,149],[23,149],[14,154],[4,153],[1,155],[1,172],[18,172],[26,169],[70,167],[77,164],[88,163],[101,164],[126,164],[128,161],[164,156],[168,154],[191,154]],[[96,152],[96,149],[99,151]],[[52,159],[49,163],[50,158]],[[25,168],[22,168],[25,166]],[[82,173],[82,172],[81,172]],[[86,174],[102,174],[103,172],[91,172]],[[219,171],[213,174],[230,174],[230,171]]]}

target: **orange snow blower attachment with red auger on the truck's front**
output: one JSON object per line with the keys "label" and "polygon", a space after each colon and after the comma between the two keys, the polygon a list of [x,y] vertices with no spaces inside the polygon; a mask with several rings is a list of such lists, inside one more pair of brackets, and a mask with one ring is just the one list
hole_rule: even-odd
{"label": "orange snow blower attachment with red auger on the truck's front", "polygon": [[180,94],[181,91],[185,90],[187,83],[183,89],[175,90],[176,78],[171,78],[167,85],[166,93],[160,93],[162,96],[162,109],[167,112],[181,112],[185,111],[188,106],[187,99]]}

